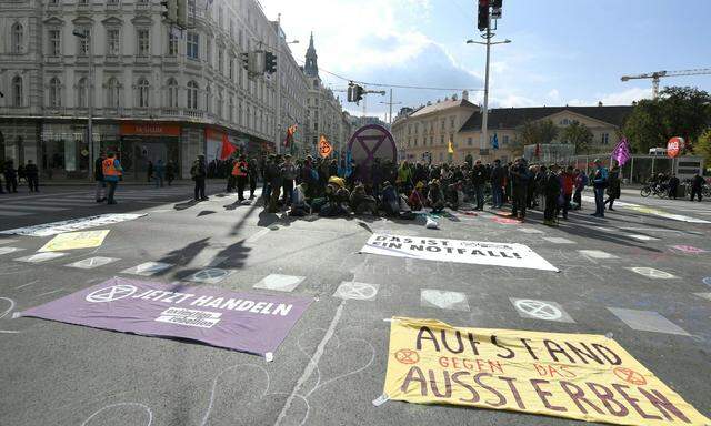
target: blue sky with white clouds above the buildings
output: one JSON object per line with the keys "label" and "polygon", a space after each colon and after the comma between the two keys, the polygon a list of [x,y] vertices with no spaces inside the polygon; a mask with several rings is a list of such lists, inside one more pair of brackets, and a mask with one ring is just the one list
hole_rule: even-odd
{"label": "blue sky with white clouds above the buildings", "polygon": [[[262,0],[298,60],[314,32],[319,67],[351,79],[390,84],[483,88],[484,48],[473,0]],[[349,18],[350,19],[347,19]],[[624,74],[711,68],[708,0],[503,0],[492,48],[493,106],[629,104],[651,95],[650,80]],[[346,82],[321,73],[340,89]],[[662,79],[663,85],[711,91],[711,75]],[[395,89],[394,101],[417,106],[454,91]],[[371,95],[368,114],[385,99]],[[470,99],[480,101],[481,92]],[[397,108],[399,108],[398,105]],[[346,108],[360,114],[354,104]]]}

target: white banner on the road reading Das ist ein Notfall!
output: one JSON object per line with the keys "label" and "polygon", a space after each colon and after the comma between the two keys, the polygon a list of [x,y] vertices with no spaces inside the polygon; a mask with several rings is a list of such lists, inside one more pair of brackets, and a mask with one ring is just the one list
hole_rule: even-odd
{"label": "white banner on the road reading Das ist ein Notfall!", "polygon": [[361,253],[559,272],[523,244],[372,234]]}

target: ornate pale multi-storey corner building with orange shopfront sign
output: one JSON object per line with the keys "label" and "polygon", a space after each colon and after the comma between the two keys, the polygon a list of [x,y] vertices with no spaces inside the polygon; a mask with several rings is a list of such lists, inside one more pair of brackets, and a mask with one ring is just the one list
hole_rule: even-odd
{"label": "ornate pale multi-storey corner building with orange shopfront sign", "polygon": [[[256,0],[188,6],[191,29],[178,31],[159,0],[0,0],[0,160],[88,179],[111,150],[127,179],[159,159],[188,178],[196,155],[214,159],[223,140],[258,155],[301,124],[294,144],[309,144],[311,81],[279,22]],[[254,50],[283,52],[277,73],[248,75],[240,53]]]}

